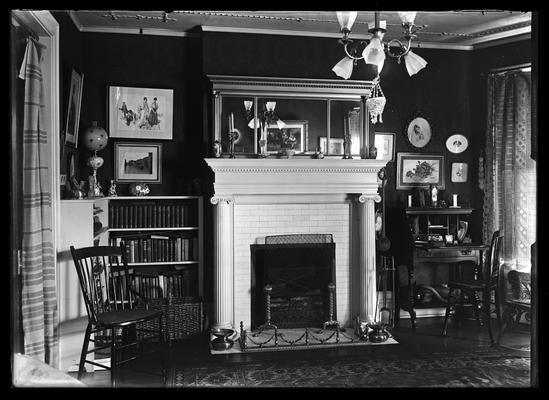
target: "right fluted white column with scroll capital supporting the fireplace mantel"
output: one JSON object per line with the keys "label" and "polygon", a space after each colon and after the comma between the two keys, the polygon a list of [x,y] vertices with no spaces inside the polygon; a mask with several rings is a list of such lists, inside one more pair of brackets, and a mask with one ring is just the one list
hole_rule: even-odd
{"label": "right fluted white column with scroll capital supporting the fireplace mantel", "polygon": [[376,288],[376,228],[374,202],[381,201],[378,194],[362,194],[358,198],[359,214],[359,279],[361,323],[375,321]]}

